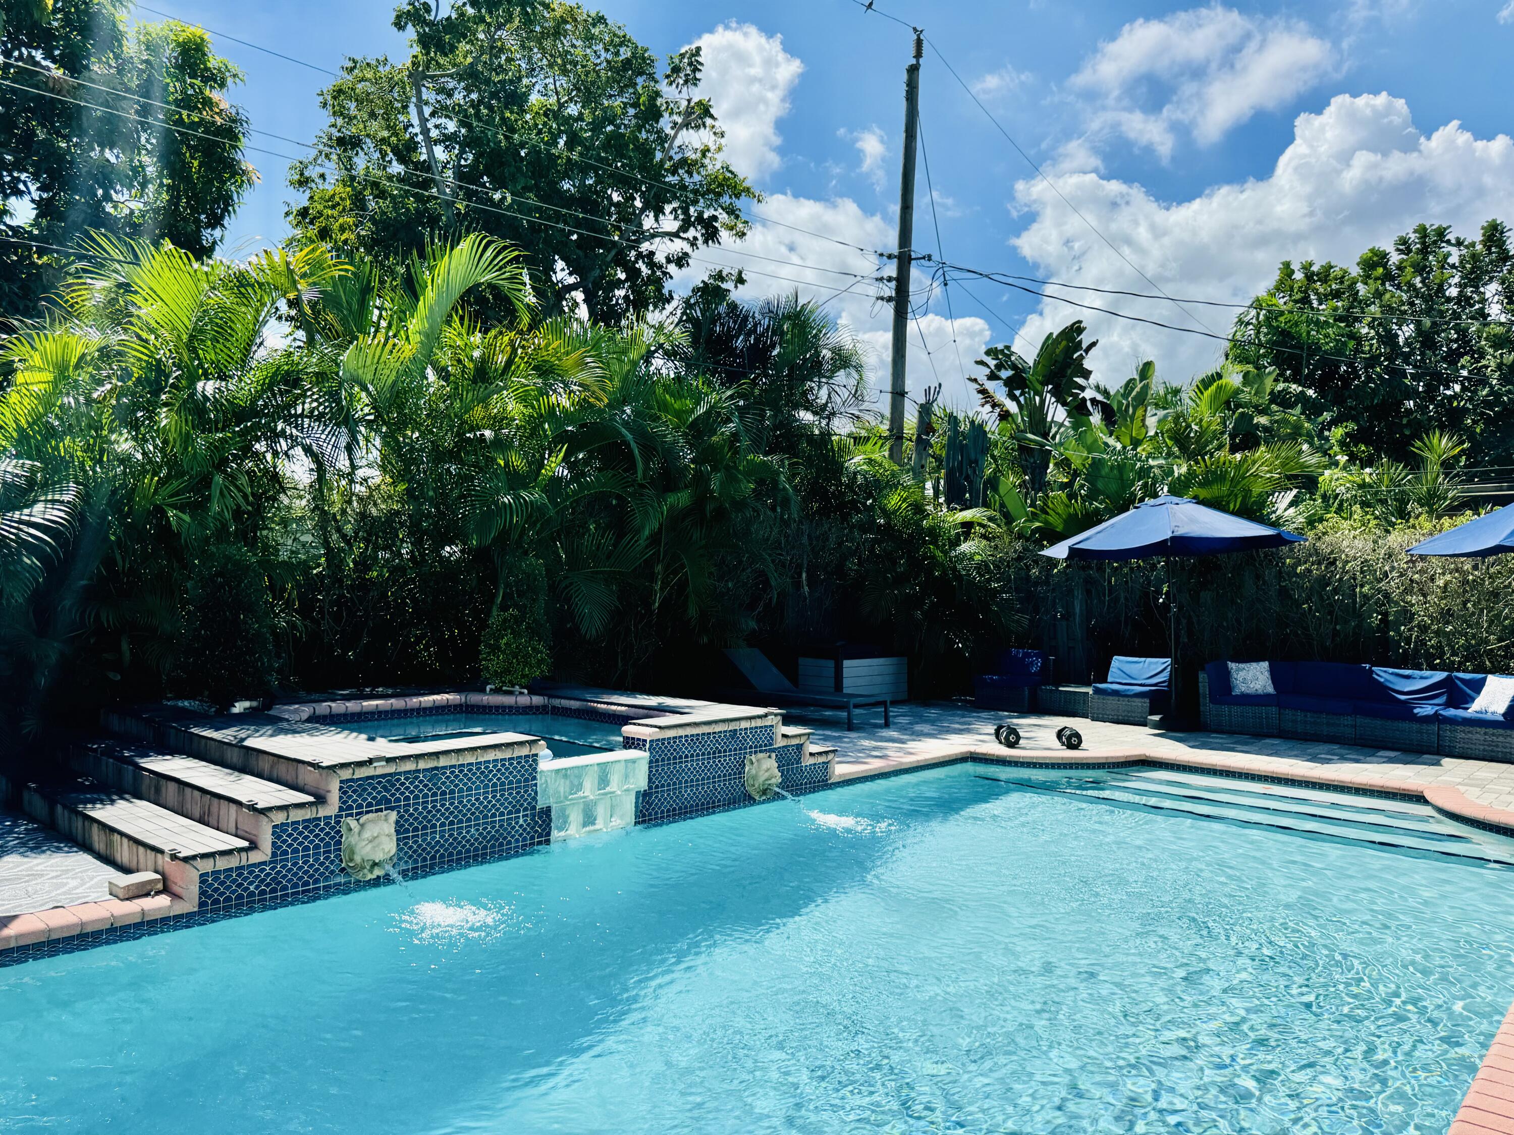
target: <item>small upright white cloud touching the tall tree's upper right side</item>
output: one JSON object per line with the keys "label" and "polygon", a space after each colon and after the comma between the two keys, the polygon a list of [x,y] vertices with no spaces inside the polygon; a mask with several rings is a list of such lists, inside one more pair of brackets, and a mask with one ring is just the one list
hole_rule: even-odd
{"label": "small upright white cloud touching the tall tree's upper right side", "polygon": [[783,50],[781,35],[731,21],[690,44],[701,48],[699,95],[710,100],[725,132],[725,159],[746,177],[763,177],[780,165],[778,120],[789,114],[789,94],[804,64]]}

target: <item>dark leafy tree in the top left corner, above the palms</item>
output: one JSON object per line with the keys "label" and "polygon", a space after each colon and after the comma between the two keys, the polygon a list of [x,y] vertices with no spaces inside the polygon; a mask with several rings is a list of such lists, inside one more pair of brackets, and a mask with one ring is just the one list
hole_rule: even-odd
{"label": "dark leafy tree in the top left corner, above the palms", "polygon": [[[0,8],[0,316],[29,315],[86,232],[209,254],[256,183],[241,73],[200,29],[129,24],[126,0]],[[165,129],[182,126],[197,133]]]}

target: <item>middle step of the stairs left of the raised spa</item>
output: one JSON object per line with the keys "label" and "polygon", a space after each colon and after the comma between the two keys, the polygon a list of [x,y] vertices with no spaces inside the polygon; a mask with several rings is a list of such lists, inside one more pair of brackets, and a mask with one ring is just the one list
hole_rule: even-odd
{"label": "middle step of the stairs left of the raised spa", "polygon": [[207,828],[269,849],[273,825],[318,816],[321,802],[245,772],[132,742],[76,746],[76,772]]}

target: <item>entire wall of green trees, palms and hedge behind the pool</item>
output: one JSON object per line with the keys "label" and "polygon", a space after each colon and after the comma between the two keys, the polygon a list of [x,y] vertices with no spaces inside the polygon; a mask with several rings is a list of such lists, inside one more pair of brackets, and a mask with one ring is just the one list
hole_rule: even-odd
{"label": "entire wall of green trees, palms and hedge behind the pool", "polygon": [[[322,95],[294,239],[232,262],[239,77],[126,12],[0,24],[0,222],[77,253],[0,247],[3,306],[30,313],[0,340],[0,743],[160,696],[547,673],[699,695],[734,645],[866,642],[908,657],[914,696],[954,695],[1005,645],[1064,679],[1161,654],[1173,610],[1190,669],[1514,669],[1514,566],[1403,555],[1514,456],[1499,221],[1285,262],[1202,375],[1099,383],[1079,322],[989,347],[981,507],[948,507],[960,407],[922,407],[896,468],[822,309],[736,301],[721,272],[671,295],[754,195],[696,51],[657,61],[562,0],[401,5],[409,58],[348,61]],[[1037,554],[1164,492],[1310,542],[1170,580]]]}

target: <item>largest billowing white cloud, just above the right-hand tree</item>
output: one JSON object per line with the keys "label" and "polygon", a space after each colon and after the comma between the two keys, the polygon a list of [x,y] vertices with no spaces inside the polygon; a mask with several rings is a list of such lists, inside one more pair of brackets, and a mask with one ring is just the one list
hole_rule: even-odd
{"label": "largest billowing white cloud, just above the right-hand tree", "polygon": [[[1063,174],[1067,198],[1169,295],[1248,303],[1278,262],[1355,263],[1370,245],[1425,221],[1475,236],[1490,218],[1514,222],[1514,139],[1481,139],[1449,123],[1431,135],[1414,126],[1402,98],[1337,95],[1320,114],[1294,121],[1291,144],[1264,179],[1217,185],[1187,201],[1160,201],[1131,182],[1096,173]],[[1034,215],[1016,248],[1048,278],[1152,291],[1040,180],[1020,182],[1016,212]],[[1173,304],[1069,292],[1072,298],[1193,327]],[[1232,312],[1190,307],[1219,333]],[[1139,359],[1187,380],[1208,369],[1223,344],[1042,301],[1023,331],[1040,342],[1081,318],[1101,340],[1090,365],[1119,381]]]}

